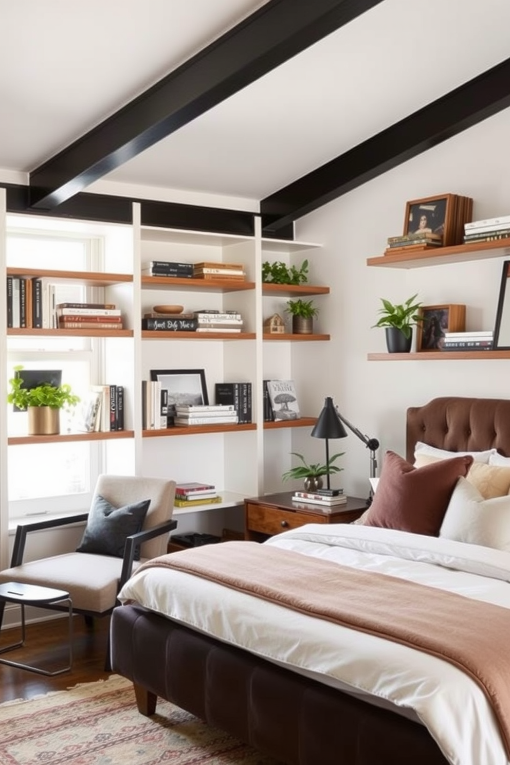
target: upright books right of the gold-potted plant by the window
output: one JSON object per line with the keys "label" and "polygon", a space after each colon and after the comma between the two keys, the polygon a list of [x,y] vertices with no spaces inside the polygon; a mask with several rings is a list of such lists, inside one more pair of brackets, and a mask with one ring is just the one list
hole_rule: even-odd
{"label": "upright books right of the gold-potted plant by the window", "polygon": [[90,386],[76,412],[76,430],[85,433],[124,430],[124,386]]}

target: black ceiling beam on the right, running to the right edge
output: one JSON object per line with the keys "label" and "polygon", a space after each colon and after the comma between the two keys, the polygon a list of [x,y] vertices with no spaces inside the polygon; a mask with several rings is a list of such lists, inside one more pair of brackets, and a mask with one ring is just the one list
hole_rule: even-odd
{"label": "black ceiling beam on the right, running to the right edge", "polygon": [[263,232],[317,207],[510,106],[510,59],[261,200]]}

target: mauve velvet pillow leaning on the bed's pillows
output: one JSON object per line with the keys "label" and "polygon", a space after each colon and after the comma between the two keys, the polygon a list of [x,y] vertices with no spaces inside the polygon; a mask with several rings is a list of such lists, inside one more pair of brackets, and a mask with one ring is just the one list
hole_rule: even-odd
{"label": "mauve velvet pillow leaning on the bed's pillows", "polygon": [[466,455],[413,467],[394,451],[387,451],[363,526],[439,535],[456,482],[460,476],[466,477],[472,463],[473,457]]}

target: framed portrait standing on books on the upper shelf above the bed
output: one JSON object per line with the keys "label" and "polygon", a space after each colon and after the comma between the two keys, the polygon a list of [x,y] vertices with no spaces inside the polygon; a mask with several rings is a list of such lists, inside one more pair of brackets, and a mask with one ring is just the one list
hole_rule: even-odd
{"label": "framed portrait standing on books on the upper shelf above the bed", "polygon": [[405,207],[404,235],[433,233],[443,237],[443,246],[455,240],[455,197],[427,197],[408,202]]}

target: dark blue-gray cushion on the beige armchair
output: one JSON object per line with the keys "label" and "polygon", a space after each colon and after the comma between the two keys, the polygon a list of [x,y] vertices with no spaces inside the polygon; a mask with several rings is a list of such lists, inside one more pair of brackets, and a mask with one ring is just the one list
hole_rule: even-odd
{"label": "dark blue-gray cushion on the beige armchair", "polygon": [[[141,500],[132,505],[114,507],[104,496],[96,494],[76,552],[122,558],[126,538],[141,531],[150,504],[151,500]],[[138,558],[135,555],[135,559]]]}

